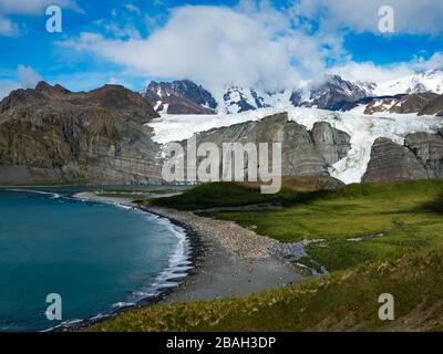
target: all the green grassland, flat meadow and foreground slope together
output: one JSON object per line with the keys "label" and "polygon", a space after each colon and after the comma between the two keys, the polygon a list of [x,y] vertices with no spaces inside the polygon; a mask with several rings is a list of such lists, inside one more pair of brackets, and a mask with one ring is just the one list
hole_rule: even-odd
{"label": "all the green grassland, flat meadow and foreground slope together", "polygon": [[[255,187],[213,184],[154,201],[181,209],[280,201],[268,211],[210,217],[254,227],[284,242],[313,240],[308,253],[331,273],[246,299],[152,306],[96,330],[379,330],[378,296],[395,298],[392,330],[441,330],[443,181],[351,185],[262,196]],[[400,320],[406,320],[404,323]]]}

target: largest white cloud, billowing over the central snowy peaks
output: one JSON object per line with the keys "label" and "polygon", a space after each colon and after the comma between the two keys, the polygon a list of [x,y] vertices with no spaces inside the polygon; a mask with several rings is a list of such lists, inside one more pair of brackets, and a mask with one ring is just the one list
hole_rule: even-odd
{"label": "largest white cloud, billowing over the central snowy peaks", "polygon": [[[328,49],[324,44],[330,44]],[[60,43],[93,52],[144,76],[187,77],[210,90],[224,84],[295,85],[298,71],[313,75],[324,59],[340,55],[337,39],[293,31],[285,13],[266,3],[238,8],[190,7],[172,11],[166,25],[145,40],[111,40],[94,33]]]}

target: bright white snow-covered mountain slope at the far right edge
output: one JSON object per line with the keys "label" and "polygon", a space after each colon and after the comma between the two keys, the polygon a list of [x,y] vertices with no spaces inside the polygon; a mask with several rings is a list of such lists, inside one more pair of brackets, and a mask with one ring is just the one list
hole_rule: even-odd
{"label": "bright white snow-covered mountain slope at the far right edge", "polygon": [[443,69],[416,72],[398,80],[377,84],[377,96],[433,92],[443,94]]}

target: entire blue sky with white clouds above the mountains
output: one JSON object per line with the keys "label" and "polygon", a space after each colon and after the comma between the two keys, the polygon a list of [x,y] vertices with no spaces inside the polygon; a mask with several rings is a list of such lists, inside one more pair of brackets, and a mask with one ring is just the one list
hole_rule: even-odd
{"label": "entire blue sky with white clouds above the mountains", "polygon": [[[40,79],[74,91],[183,77],[274,90],[327,72],[391,80],[443,65],[443,1],[416,2],[0,0],[0,96]],[[50,4],[62,33],[45,30]],[[378,30],[382,4],[394,33]]]}

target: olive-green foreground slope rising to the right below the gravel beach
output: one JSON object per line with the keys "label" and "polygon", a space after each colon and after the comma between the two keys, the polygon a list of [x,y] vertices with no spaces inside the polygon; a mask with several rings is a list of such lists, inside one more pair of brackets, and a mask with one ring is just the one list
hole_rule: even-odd
{"label": "olive-green foreground slope rising to the right below the gravel beach", "polygon": [[[443,250],[425,251],[241,299],[147,306],[92,331],[440,331],[442,271]],[[395,322],[379,320],[382,293]]]}

